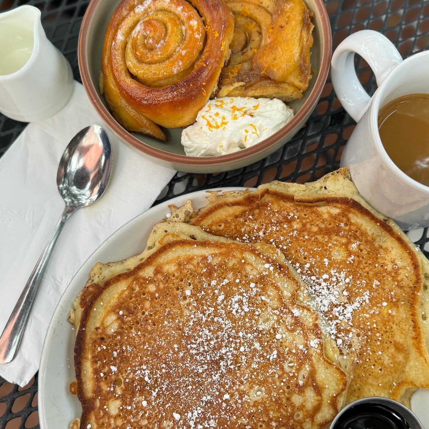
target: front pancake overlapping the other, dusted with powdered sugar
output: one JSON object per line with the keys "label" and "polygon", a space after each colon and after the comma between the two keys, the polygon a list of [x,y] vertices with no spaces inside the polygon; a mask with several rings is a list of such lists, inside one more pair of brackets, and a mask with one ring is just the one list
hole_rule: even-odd
{"label": "front pancake overlapping the other, dusted with powdered sugar", "polygon": [[311,429],[341,408],[338,349],[273,246],[163,223],[91,280],[73,311],[81,429]]}

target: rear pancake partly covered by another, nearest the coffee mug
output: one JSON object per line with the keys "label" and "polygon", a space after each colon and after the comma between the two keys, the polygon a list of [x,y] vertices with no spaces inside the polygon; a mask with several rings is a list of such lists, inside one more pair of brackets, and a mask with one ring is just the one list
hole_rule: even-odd
{"label": "rear pancake partly covered by another, nearest the coffee mug", "polygon": [[415,388],[429,387],[428,260],[346,170],[209,201],[193,225],[275,245],[299,272],[324,332],[356,362],[346,402],[386,396],[409,407]]}

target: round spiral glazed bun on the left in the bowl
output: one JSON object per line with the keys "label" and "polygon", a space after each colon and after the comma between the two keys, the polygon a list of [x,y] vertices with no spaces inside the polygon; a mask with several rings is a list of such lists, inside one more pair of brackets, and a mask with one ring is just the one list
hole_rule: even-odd
{"label": "round spiral glazed bun on the left in the bowl", "polygon": [[123,0],[106,31],[104,97],[127,130],[165,141],[216,90],[233,17],[222,0]]}

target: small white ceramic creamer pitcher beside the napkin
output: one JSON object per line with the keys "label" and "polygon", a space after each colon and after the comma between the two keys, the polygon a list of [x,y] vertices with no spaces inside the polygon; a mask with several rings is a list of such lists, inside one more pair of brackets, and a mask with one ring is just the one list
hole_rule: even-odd
{"label": "small white ceramic creamer pitcher beside the napkin", "polygon": [[20,6],[0,14],[0,112],[16,121],[49,118],[69,100],[73,73],[47,39],[40,11]]}

